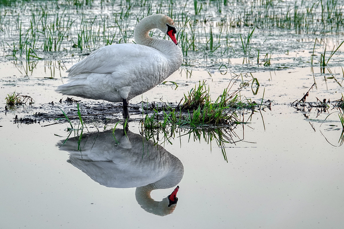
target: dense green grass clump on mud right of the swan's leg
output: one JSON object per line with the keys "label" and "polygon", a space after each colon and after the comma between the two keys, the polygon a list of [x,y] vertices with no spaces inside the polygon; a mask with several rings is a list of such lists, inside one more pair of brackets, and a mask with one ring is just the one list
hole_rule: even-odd
{"label": "dense green grass clump on mud right of the swan's leg", "polygon": [[203,125],[218,126],[242,123],[237,119],[236,111],[243,108],[254,109],[257,103],[241,98],[239,92],[244,84],[230,93],[232,86],[233,83],[229,83],[223,93],[215,101],[212,101],[205,81],[199,82],[198,86],[195,85],[195,88],[188,92],[188,95],[184,94],[182,105],[155,107],[152,114],[146,115],[141,120],[141,128],[154,129],[168,126],[197,128]]}

